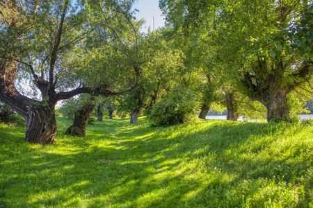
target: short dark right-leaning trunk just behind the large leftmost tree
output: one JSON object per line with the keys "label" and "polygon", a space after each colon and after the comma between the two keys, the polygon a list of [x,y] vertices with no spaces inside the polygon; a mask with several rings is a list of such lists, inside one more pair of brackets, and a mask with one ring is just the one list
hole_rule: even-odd
{"label": "short dark right-leaning trunk just behind the large leftmost tree", "polygon": [[65,134],[78,137],[86,135],[86,125],[91,112],[93,112],[93,107],[95,107],[93,103],[88,103],[87,105],[81,107],[75,114],[73,125],[67,128]]}

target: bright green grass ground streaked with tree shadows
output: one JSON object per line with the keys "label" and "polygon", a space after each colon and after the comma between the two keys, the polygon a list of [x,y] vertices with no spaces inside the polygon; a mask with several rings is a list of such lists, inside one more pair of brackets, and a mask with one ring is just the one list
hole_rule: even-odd
{"label": "bright green grass ground streaked with tree shadows", "polygon": [[312,125],[70,124],[47,146],[0,124],[0,207],[313,207]]}

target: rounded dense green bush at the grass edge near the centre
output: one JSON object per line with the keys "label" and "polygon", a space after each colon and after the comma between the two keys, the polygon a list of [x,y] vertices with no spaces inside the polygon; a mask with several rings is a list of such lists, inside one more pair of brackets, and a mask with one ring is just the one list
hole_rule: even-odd
{"label": "rounded dense green bush at the grass edge near the centre", "polygon": [[156,126],[186,123],[195,116],[198,107],[197,100],[195,92],[190,87],[176,87],[152,107],[149,121]]}

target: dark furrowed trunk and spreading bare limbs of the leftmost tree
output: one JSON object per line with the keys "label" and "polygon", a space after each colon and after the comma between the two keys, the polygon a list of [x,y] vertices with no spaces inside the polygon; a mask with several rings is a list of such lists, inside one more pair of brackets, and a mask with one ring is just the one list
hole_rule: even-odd
{"label": "dark furrowed trunk and spreading bare limbs of the leftmost tree", "polygon": [[[49,69],[45,71],[42,69],[41,76],[36,74],[36,70],[33,69],[31,62],[23,62],[19,60],[19,51],[24,51],[23,46],[19,46],[19,49],[15,49],[16,45],[12,44],[10,40],[15,38],[21,38],[22,33],[29,31],[29,29],[35,28],[33,25],[24,25],[24,6],[19,6],[17,1],[1,1],[2,6],[8,6],[11,9],[10,15],[8,18],[4,17],[5,21],[2,21],[4,28],[3,34],[1,33],[1,39],[6,40],[3,42],[3,49],[6,50],[5,53],[2,53],[1,50],[1,60],[0,60],[0,99],[6,105],[9,105],[13,110],[18,114],[23,116],[26,120],[26,134],[25,140],[37,143],[37,144],[53,144],[54,137],[56,136],[56,131],[58,125],[56,124],[54,107],[56,103],[60,100],[71,98],[82,93],[88,93],[93,95],[102,94],[104,96],[110,95],[121,95],[127,94],[134,91],[139,85],[139,74],[140,74],[140,65],[134,66],[134,72],[136,73],[136,84],[129,89],[122,92],[112,92],[109,89],[103,89],[103,87],[97,87],[92,89],[90,87],[78,87],[73,89],[70,92],[58,92],[56,93],[55,87],[58,80],[56,76],[55,66],[58,60],[58,55],[60,53],[60,46],[67,45],[66,42],[62,42],[62,35],[65,33],[63,30],[63,25],[66,21],[67,6],[69,1],[65,1],[63,6],[63,12],[59,24],[55,22],[57,29],[57,35],[54,34],[54,31],[51,31],[51,37],[54,37],[54,40],[51,40],[51,49],[47,50],[51,53],[47,55],[49,59]],[[36,1],[32,14],[38,9],[38,2]],[[21,15],[24,14],[24,15]],[[8,15],[7,15],[8,16]],[[29,21],[27,24],[31,23],[32,17],[29,16]],[[57,18],[58,19],[58,18]],[[19,26],[21,26],[19,28]],[[8,33],[7,33],[8,32]],[[29,33],[35,33],[33,32]],[[8,36],[6,36],[8,34]],[[27,33],[25,33],[27,36]],[[49,35],[48,35],[49,36]],[[78,40],[78,39],[77,39]],[[24,42],[24,41],[23,41]],[[26,41],[27,42],[27,41]],[[76,44],[73,42],[72,44]],[[22,42],[21,42],[22,44]],[[11,50],[12,49],[12,50]],[[47,59],[47,62],[48,62]],[[45,60],[46,61],[46,60]],[[27,98],[20,94],[15,87],[15,75],[17,74],[17,62],[24,64],[24,67],[29,67],[31,71],[31,76],[33,77],[35,85],[40,89],[42,94],[42,101],[36,101],[35,99]],[[43,65],[42,65],[43,66]],[[47,73],[45,73],[47,72]],[[49,75],[49,78],[45,80],[45,76]]]}

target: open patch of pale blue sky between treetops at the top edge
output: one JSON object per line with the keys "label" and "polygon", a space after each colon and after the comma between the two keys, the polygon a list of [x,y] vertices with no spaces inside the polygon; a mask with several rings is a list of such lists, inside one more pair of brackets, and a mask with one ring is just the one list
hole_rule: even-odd
{"label": "open patch of pale blue sky between treetops at the top edge", "polygon": [[164,20],[161,10],[159,9],[159,0],[138,0],[135,3],[135,8],[139,10],[136,13],[137,19],[145,19],[145,26],[141,31],[147,33],[149,26],[153,30],[153,17],[154,17],[154,29],[164,26]]}

